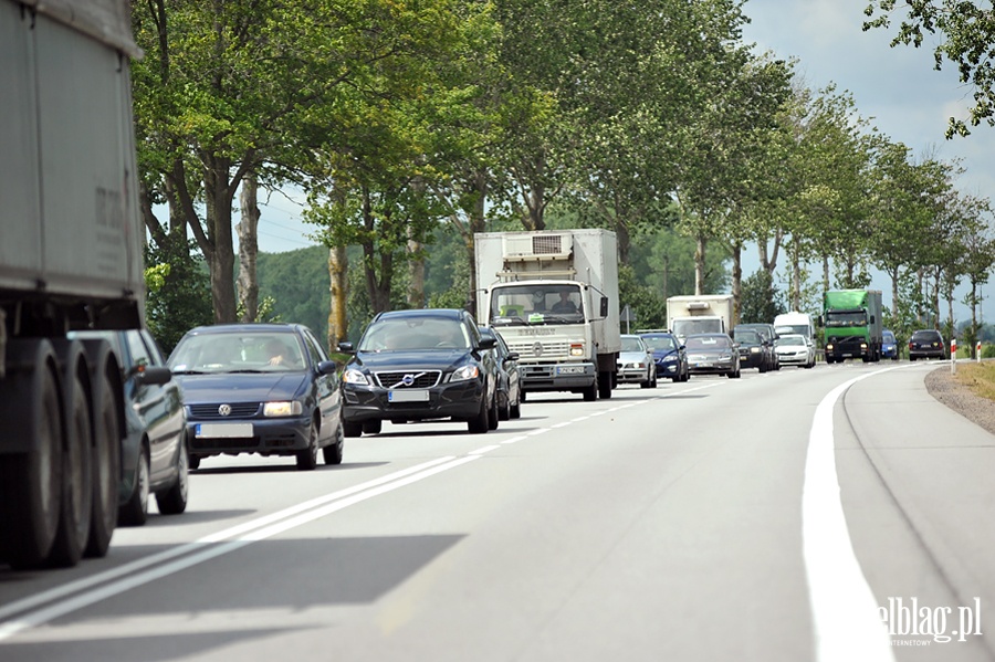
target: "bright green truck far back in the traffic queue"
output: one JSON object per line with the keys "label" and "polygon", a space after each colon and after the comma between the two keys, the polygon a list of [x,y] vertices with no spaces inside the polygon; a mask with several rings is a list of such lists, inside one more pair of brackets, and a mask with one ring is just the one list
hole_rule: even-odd
{"label": "bright green truck far back in the traffic queue", "polygon": [[823,298],[826,362],[881,360],[883,321],[879,290],[829,290]]}

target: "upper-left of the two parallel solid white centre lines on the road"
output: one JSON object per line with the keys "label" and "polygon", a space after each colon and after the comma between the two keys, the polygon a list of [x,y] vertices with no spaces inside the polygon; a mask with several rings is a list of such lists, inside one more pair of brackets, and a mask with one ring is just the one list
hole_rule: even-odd
{"label": "upper-left of the two parallel solid white centre lines on the road", "polygon": [[[15,602],[11,602],[0,608],[0,620],[6,619],[14,613],[25,611],[28,609],[32,609],[40,605],[44,605],[45,602],[51,602],[53,600],[59,600],[64,598],[65,596],[75,593],[77,591],[85,590],[92,586],[96,586],[98,584],[104,584],[105,581],[111,581],[118,577],[123,577],[125,575],[129,575],[132,572],[136,572],[142,570],[143,568],[147,568],[148,566],[153,566],[156,564],[160,564],[167,561],[169,559],[176,558],[177,556],[182,556],[185,554],[197,551],[202,549],[207,545],[211,545],[214,543],[221,543],[227,539],[233,538],[247,532],[250,532],[255,528],[261,528],[273,522],[277,522],[280,519],[290,517],[292,515],[296,515],[301,512],[307,511],[310,508],[314,508],[321,506],[325,503],[333,502],[339,498],[344,498],[352,494],[356,494],[358,492],[363,492],[365,490],[369,490],[371,487],[377,487],[379,485],[384,485],[386,483],[390,483],[392,481],[397,481],[399,479],[404,479],[405,476],[409,476],[411,474],[417,474],[419,472],[426,471],[433,466],[444,464],[447,462],[451,462],[454,460],[453,455],[437,458],[436,460],[430,460],[428,462],[422,462],[421,464],[416,464],[415,466],[410,466],[408,469],[396,471],[394,473],[387,474],[385,476],[380,476],[378,479],[373,479],[370,481],[366,481],[365,483],[359,483],[358,485],[354,485],[352,487],[346,487],[344,490],[339,490],[337,492],[332,492],[331,494],[325,494],[324,496],[320,496],[310,501],[302,502],[300,504],[295,504],[291,507],[284,508],[283,511],[279,511],[276,513],[272,513],[270,515],[265,515],[263,517],[259,517],[256,519],[252,519],[251,522],[247,522],[243,524],[239,524],[237,526],[232,526],[226,528],[223,530],[210,534],[202,538],[199,538],[192,543],[187,543],[186,545],[180,545],[178,547],[174,547],[172,549],[167,549],[165,551],[160,551],[158,554],[154,554],[151,556],[147,556],[145,558],[140,558],[134,560],[132,563],[125,564],[123,566],[118,566],[117,568],[113,568],[111,570],[106,570],[104,572],[98,572],[91,577],[86,577],[83,579],[77,579],[76,581],[71,581],[69,584],[64,584],[56,588],[42,591],[40,593],[35,593],[29,598],[24,598],[22,600],[18,600]],[[2,638],[0,638],[2,639]]]}

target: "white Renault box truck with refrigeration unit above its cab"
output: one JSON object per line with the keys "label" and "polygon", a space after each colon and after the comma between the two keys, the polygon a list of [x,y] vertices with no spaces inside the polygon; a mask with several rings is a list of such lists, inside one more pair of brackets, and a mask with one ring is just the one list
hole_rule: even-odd
{"label": "white Renault box truck with refrigeration unit above its cab", "polygon": [[621,349],[618,243],[608,230],[482,232],[476,319],[523,368],[523,393],[610,398]]}

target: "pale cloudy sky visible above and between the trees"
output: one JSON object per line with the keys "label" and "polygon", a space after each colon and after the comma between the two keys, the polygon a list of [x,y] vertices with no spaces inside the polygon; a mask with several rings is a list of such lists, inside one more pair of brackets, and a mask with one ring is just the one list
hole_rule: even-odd
{"label": "pale cloudy sky visible above and between the trees", "polygon": [[[966,138],[946,140],[950,116],[966,117],[971,88],[957,81],[956,69],[945,63],[933,69],[935,40],[923,48],[889,45],[894,28],[863,32],[863,9],[869,0],[746,0],[743,11],[751,23],[743,39],[758,53],[773,51],[795,59],[796,72],[813,90],[836,85],[852,96],[856,112],[893,141],[912,149],[915,159],[960,161],[965,172],[956,186],[963,192],[988,198],[995,191],[995,128],[973,127]],[[260,250],[284,252],[313,245],[312,230],[300,221],[303,195],[274,193],[262,204]],[[744,256],[744,273],[756,270],[756,251]],[[872,287],[891,305],[891,283],[876,276]],[[995,291],[995,290],[993,290]],[[959,308],[963,319],[966,308]]]}

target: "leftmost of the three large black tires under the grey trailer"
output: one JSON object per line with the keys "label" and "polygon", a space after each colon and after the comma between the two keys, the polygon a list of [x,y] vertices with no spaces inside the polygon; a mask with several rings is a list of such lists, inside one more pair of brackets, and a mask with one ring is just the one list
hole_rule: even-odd
{"label": "leftmost of the three large black tires under the grey trailer", "polygon": [[41,566],[59,530],[63,485],[63,408],[52,345],[8,341],[9,364],[24,364],[0,380],[4,437],[31,440],[27,452],[0,456],[0,558],[15,570]]}

